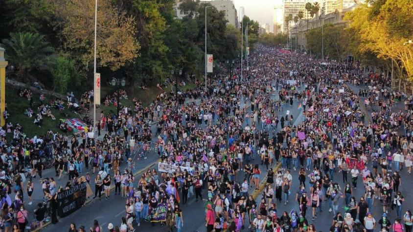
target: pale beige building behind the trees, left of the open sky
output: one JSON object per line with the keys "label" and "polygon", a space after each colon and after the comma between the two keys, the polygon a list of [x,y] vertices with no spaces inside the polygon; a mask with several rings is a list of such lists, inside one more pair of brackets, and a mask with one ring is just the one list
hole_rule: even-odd
{"label": "pale beige building behind the trees, left of the open sky", "polygon": [[[179,5],[182,3],[183,0],[175,0],[175,11],[178,19],[184,18],[186,15],[181,12],[179,9]],[[194,0],[195,1],[195,0]],[[238,27],[238,14],[237,10],[235,9],[234,3],[232,0],[205,0],[212,6],[214,6],[218,11],[224,11],[225,19],[228,21],[229,24]]]}

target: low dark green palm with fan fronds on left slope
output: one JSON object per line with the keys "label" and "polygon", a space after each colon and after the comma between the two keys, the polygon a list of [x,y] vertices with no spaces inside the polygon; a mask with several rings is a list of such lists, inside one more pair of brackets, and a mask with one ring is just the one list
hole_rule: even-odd
{"label": "low dark green palm with fan fronds on left slope", "polygon": [[54,64],[54,49],[44,37],[38,33],[18,32],[10,33],[10,40],[2,40],[7,58],[19,69],[21,78],[26,78],[32,68],[48,69]]}

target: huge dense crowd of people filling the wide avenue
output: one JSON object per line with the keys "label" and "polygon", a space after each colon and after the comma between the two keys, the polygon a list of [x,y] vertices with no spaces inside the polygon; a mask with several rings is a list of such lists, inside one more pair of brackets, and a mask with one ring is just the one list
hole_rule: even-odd
{"label": "huge dense crowd of people filling the wide avenue", "polygon": [[[8,123],[13,140],[8,143],[6,132],[0,133],[0,226],[6,232],[28,226],[24,205],[31,205],[37,191],[36,176],[42,178],[44,203],[36,209],[33,227],[49,219],[57,223],[57,193],[84,175],[93,198],[100,200],[103,193],[109,200],[111,186],[126,198],[125,216],[119,226],[110,223],[110,231],[135,231],[140,223],[185,231],[181,206],[195,197],[205,202],[208,232],[316,232],[323,210],[331,212],[331,232],[411,232],[413,217],[402,211],[405,197],[399,187],[412,166],[412,97],[386,89],[384,75],[366,77],[358,63],[325,62],[261,45],[251,57],[243,79],[238,67],[232,77],[215,75],[207,89],[201,85],[172,97],[162,93],[149,106],[133,99],[134,106],[122,106],[119,114],[100,115],[96,133],[104,132],[101,140],[88,138],[87,131],[80,138],[52,131],[27,138],[23,128]],[[366,87],[354,92],[345,83]],[[20,94],[33,98],[29,90]],[[120,94],[127,98],[125,91]],[[77,105],[68,94],[68,106],[89,108],[92,96],[85,93]],[[116,100],[107,97],[105,104]],[[290,113],[293,103],[302,110],[299,123]],[[38,114],[48,115],[42,104]],[[33,107],[28,114],[34,114]],[[373,110],[371,119],[365,109]],[[135,162],[152,150],[176,169],[148,169],[136,178]],[[55,177],[43,178],[50,161],[55,177],[67,173],[65,186],[57,186]],[[262,194],[253,199],[251,191],[259,190],[263,180]],[[294,200],[297,210],[277,211]],[[372,210],[377,205],[379,214]],[[396,215],[390,216],[390,209]],[[69,231],[85,227],[72,223]],[[91,231],[102,231],[97,220]]]}

